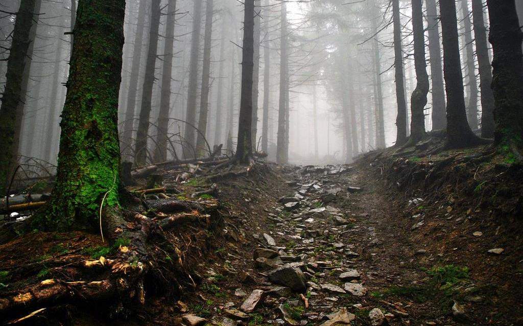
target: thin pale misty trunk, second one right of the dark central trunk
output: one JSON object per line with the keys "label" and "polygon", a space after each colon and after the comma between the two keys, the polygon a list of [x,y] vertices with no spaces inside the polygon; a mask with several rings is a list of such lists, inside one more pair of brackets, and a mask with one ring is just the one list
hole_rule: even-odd
{"label": "thin pale misty trunk, second one right of the dark central trunk", "polygon": [[[266,5],[268,5],[266,1]],[[268,14],[268,10],[266,10]],[[269,144],[269,96],[270,96],[270,43],[269,23],[264,19],[265,43],[264,44],[264,76],[263,76],[263,118],[261,123],[261,150],[267,153]]]}

